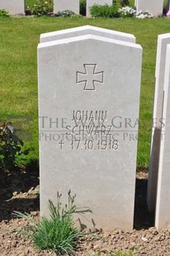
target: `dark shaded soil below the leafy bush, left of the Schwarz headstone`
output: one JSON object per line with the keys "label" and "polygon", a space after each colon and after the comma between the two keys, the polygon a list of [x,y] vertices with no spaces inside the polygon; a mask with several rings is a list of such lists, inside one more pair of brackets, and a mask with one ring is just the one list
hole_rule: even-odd
{"label": "dark shaded soil below the leafy bush, left of the Schwarz headstone", "polygon": [[[0,221],[11,220],[13,211],[40,211],[39,164],[32,161],[23,169],[14,169],[8,173],[0,189]],[[12,197],[12,195],[16,195]],[[21,196],[17,196],[21,195]]]}

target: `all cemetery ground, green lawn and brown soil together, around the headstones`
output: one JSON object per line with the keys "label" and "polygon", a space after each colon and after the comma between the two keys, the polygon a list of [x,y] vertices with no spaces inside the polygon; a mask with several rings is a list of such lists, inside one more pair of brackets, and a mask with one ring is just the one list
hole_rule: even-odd
{"label": "all cemetery ground, green lawn and brown soil together, around the headstones", "polygon": [[[24,167],[13,169],[0,190],[0,252],[1,255],[48,255],[39,252],[30,239],[18,234],[15,228],[26,225],[17,220],[12,211],[28,212],[39,217],[38,170],[38,93],[37,93],[37,45],[40,34],[75,26],[92,25],[135,35],[144,49],[143,76],[139,117],[138,172],[135,197],[135,230],[115,230],[112,234],[87,236],[81,241],[77,255],[109,254],[121,250],[135,255],[169,255],[170,231],[157,232],[153,228],[153,215],[146,206],[149,144],[152,126],[153,88],[157,38],[169,32],[168,18],[154,19],[84,19],[54,17],[0,18],[0,114],[1,118],[29,120],[23,126],[26,148],[34,148]],[[13,117],[12,117],[13,116]],[[125,140],[135,140],[125,137]],[[78,195],[77,195],[78,197]],[[119,254],[117,254],[119,255]],[[121,255],[121,254],[120,254]]]}

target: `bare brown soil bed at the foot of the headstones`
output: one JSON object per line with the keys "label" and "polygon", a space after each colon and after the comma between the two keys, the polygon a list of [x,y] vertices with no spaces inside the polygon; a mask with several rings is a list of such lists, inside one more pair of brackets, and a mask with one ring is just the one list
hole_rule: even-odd
{"label": "bare brown soil bed at the foot of the headstones", "polygon": [[[101,252],[134,250],[133,255],[170,256],[170,228],[158,232],[154,227],[154,216],[146,205],[148,170],[139,169],[136,174],[135,226],[134,230],[114,230],[112,233],[87,235],[78,243],[76,255],[92,256]],[[39,219],[39,170],[32,163],[25,169],[8,173],[0,190],[0,255],[44,256],[53,252],[35,249],[31,239],[18,233],[26,220],[17,219],[13,211],[31,213]],[[137,249],[137,251],[135,251]]]}

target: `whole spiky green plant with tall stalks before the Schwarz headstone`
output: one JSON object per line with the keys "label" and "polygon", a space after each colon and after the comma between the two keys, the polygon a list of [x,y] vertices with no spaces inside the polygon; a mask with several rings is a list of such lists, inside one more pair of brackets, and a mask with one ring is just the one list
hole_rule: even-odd
{"label": "whole spiky green plant with tall stalks before the Schwarz headstone", "polygon": [[42,217],[39,223],[35,223],[33,218],[26,213],[15,211],[14,215],[25,218],[31,223],[30,231],[25,231],[33,239],[37,248],[52,249],[59,254],[73,254],[78,244],[78,238],[83,236],[83,233],[75,226],[73,214],[90,210],[78,211],[74,204],[75,195],[72,197],[71,191],[68,192],[68,205],[62,207],[61,196],[58,192],[57,206],[49,201],[50,219]]}

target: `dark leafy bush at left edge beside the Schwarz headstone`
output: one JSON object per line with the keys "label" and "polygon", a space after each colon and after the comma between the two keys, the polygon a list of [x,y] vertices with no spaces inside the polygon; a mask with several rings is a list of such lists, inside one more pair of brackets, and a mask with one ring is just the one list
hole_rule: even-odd
{"label": "dark leafy bush at left edge beside the Schwarz headstone", "polygon": [[5,172],[17,164],[18,158],[29,154],[31,149],[23,150],[24,143],[13,132],[12,124],[3,121],[0,124],[0,168]]}

